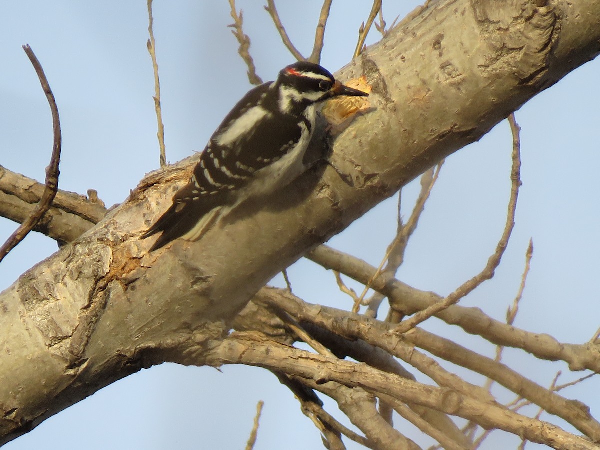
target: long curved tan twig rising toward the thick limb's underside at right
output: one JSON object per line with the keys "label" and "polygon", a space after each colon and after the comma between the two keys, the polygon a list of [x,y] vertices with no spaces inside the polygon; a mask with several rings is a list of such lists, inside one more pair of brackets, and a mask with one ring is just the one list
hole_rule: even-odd
{"label": "long curved tan twig rising toward the thick limb's underside at right", "polygon": [[461,298],[473,292],[478,286],[481,285],[485,280],[490,280],[494,276],[494,272],[500,265],[508,241],[511,238],[512,229],[515,226],[515,211],[517,210],[517,199],[519,194],[519,188],[521,187],[521,140],[519,133],[521,127],[515,120],[514,113],[508,117],[508,122],[511,125],[512,130],[512,170],[511,170],[511,199],[508,202],[508,214],[506,216],[506,226],[502,234],[502,238],[498,242],[496,251],[488,260],[487,265],[478,275],[463,283],[457,290],[452,292],[443,301],[431,305],[425,310],[419,311],[409,320],[398,325],[396,332],[402,334],[406,333],[419,323],[424,322],[440,311],[445,310],[450,305],[456,304]]}

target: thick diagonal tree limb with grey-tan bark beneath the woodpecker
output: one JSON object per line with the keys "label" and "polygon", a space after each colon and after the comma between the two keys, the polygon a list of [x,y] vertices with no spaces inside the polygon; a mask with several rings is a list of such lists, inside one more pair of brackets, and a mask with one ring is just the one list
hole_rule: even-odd
{"label": "thick diagonal tree limb with grey-tan bark beneath the woodpecker", "polygon": [[0,295],[0,445],[142,367],[180,361],[169,349],[182,335],[193,332],[204,364],[277,272],[595,58],[599,17],[600,0],[447,0],[415,11],[338,73],[373,86],[371,110],[333,147],[354,185],[311,170],[199,242],[148,254],[152,239],[138,239],[194,158],[146,177]]}

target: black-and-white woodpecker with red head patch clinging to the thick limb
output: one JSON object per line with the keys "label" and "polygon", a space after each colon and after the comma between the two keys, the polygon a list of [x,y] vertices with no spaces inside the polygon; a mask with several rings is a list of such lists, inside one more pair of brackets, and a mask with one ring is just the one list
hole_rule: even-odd
{"label": "black-and-white woodpecker with red head patch clinging to the thick limb", "polygon": [[340,95],[368,96],[310,62],[289,65],[277,81],[248,92],[212,135],[173,205],[143,233],[145,239],[162,232],[150,251],[178,238],[197,241],[245,200],[268,196],[302,175],[316,106]]}

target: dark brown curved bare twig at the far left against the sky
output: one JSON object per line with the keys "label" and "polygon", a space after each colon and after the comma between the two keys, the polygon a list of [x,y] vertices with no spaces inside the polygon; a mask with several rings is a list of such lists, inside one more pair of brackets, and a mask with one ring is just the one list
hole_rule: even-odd
{"label": "dark brown curved bare twig at the far left against the sky", "polygon": [[56,191],[58,191],[58,176],[60,174],[58,166],[61,162],[62,133],[61,119],[58,115],[56,99],[54,98],[54,94],[52,94],[52,89],[50,89],[50,84],[48,83],[46,74],[44,74],[44,69],[41,67],[40,61],[37,59],[37,56],[35,56],[34,51],[31,49],[31,47],[29,47],[29,45],[23,46],[23,50],[25,50],[25,53],[29,57],[31,64],[33,64],[35,73],[37,73],[38,78],[40,79],[41,87],[44,89],[44,94],[46,94],[46,98],[50,104],[50,110],[52,111],[54,144],[52,147],[52,157],[50,157],[50,165],[46,167],[46,188],[41,196],[40,203],[38,203],[34,211],[32,211],[29,218],[20,224],[16,232],[14,232],[13,235],[11,235],[10,238],[8,238],[8,240],[4,243],[4,245],[2,245],[0,248],[0,262],[2,262],[4,257],[7,256],[7,254],[10,253],[14,247],[19,245],[19,242],[25,239],[25,236],[27,236],[29,232],[34,229],[35,225],[41,220],[43,215],[46,214],[46,211],[50,209],[54,197],[56,197]]}

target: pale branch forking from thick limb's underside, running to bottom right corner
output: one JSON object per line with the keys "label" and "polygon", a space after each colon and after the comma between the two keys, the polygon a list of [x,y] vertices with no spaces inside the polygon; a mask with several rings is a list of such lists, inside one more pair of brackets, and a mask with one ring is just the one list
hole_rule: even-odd
{"label": "pale branch forking from thick limb's underside, running to bottom right corner", "polygon": [[[184,364],[190,364],[188,349],[189,346],[185,346],[179,352]],[[174,362],[179,362],[176,355],[172,356]],[[421,404],[444,413],[451,413],[476,421],[481,427],[500,428],[553,448],[582,450],[597,448],[584,437],[568,433],[548,422],[519,415],[503,406],[470,398],[458,392],[452,392],[450,395],[444,389],[412,382],[395,374],[376,370],[366,364],[331,359],[273,341],[261,341],[256,333],[230,335],[220,346],[203,355],[202,363],[217,367],[223,364],[245,364],[279,370],[292,377],[306,380],[313,389],[326,388],[328,385],[331,386],[330,382],[335,382],[348,388],[362,388],[371,395],[391,395],[404,403]],[[356,389],[350,390],[356,391]],[[380,418],[380,416],[376,414],[373,418]],[[381,425],[389,427],[385,420],[382,419],[380,422]],[[395,430],[390,428],[389,431]]]}

